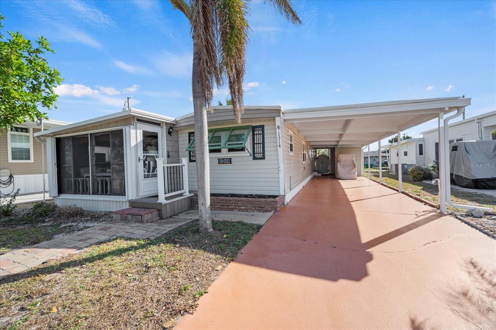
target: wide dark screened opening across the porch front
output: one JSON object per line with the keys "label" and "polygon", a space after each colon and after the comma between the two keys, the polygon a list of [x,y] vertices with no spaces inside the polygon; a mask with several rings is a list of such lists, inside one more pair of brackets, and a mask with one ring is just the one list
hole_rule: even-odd
{"label": "wide dark screened opening across the porch front", "polygon": [[57,138],[59,193],[125,195],[122,130]]}

